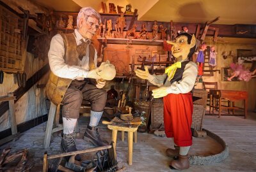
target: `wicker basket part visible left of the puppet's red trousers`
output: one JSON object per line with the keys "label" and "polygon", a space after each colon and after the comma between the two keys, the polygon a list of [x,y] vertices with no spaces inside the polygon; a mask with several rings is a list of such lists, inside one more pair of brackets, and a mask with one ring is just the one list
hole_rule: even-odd
{"label": "wicker basket part visible left of the puppet's red trousers", "polygon": [[164,103],[163,98],[154,99],[151,107],[150,131],[164,129]]}

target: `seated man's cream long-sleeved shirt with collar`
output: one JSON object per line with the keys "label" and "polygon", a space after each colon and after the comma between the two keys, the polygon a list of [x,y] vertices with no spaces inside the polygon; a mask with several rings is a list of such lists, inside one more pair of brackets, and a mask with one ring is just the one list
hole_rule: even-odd
{"label": "seated man's cream long-sleeved shirt with collar", "polygon": [[[85,40],[83,36],[77,31],[74,31],[76,37],[77,45],[80,45]],[[79,66],[69,66],[65,64],[63,59],[65,54],[65,47],[63,38],[60,34],[56,34],[52,37],[50,50],[48,52],[49,64],[52,73],[61,78],[68,78],[72,80],[83,80],[87,77],[89,71],[89,46],[86,48],[86,55],[83,57],[82,61],[79,61]],[[94,64],[97,66],[97,50],[95,50]]]}

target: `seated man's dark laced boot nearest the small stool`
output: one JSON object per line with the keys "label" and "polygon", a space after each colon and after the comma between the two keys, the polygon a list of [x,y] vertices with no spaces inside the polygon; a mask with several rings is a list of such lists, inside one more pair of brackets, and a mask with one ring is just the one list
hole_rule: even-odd
{"label": "seated man's dark laced boot nearest the small stool", "polygon": [[90,125],[87,126],[84,132],[84,140],[88,140],[93,143],[96,147],[102,147],[109,145],[108,141],[102,140],[100,138],[99,127],[91,127]]}

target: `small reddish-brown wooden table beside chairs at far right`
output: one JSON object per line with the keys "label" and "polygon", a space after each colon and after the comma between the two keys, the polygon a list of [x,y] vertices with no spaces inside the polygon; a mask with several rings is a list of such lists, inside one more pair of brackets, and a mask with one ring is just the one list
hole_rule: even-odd
{"label": "small reddish-brown wooden table beside chairs at far right", "polygon": [[[213,106],[214,103],[214,98],[218,99],[219,103],[219,118],[221,115],[221,109],[222,108],[228,108],[228,109],[243,109],[244,110],[244,118],[247,117],[247,108],[248,108],[248,92],[246,91],[241,91],[241,90],[209,90],[210,94],[210,111],[211,107]],[[223,107],[221,106],[221,100],[222,99],[228,99],[232,101],[232,107]],[[244,101],[244,108],[238,108],[235,106],[235,101]],[[211,106],[212,104],[212,106]]]}

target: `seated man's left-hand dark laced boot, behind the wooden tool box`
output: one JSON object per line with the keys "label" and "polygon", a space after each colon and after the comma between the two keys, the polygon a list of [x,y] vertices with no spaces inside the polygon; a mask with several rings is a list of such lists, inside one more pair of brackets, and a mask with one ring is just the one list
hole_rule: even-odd
{"label": "seated man's left-hand dark laced boot, behind the wooden tool box", "polygon": [[[63,134],[61,133],[61,143],[60,143],[61,150],[63,152],[73,152],[76,151],[76,138],[75,133],[71,134]],[[66,158],[68,161],[69,157]],[[79,154],[76,155],[76,161],[81,161],[81,157]]]}

